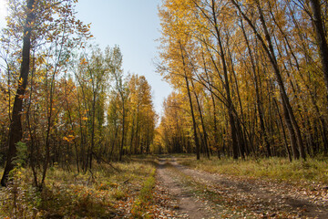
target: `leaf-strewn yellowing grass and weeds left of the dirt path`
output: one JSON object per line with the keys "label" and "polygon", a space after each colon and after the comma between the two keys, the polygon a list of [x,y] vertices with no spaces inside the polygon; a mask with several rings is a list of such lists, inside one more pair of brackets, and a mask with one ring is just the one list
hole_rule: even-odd
{"label": "leaf-strewn yellowing grass and weeds left of the dirt path", "polygon": [[33,188],[30,170],[17,169],[13,183],[0,188],[0,218],[121,218],[132,214],[135,200],[146,212],[154,165],[138,158],[112,165],[95,163],[87,173],[52,166],[42,192]]}

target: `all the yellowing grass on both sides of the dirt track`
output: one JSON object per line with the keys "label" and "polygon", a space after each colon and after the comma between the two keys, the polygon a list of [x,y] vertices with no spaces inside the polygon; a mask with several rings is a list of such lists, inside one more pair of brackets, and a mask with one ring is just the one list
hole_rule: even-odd
{"label": "all the yellowing grass on both sides of the dirt track", "polygon": [[[174,156],[181,164],[206,172],[300,186],[328,184],[328,161],[324,159],[291,163],[282,158],[245,161],[202,158],[196,161],[194,155]],[[42,192],[32,186],[29,169],[17,169],[13,172],[13,182],[0,188],[0,218],[121,218],[123,215],[152,218],[157,208],[153,201],[156,183],[154,158],[132,157],[111,165],[95,163],[92,171],[87,173],[66,172],[54,165],[49,168]],[[0,168],[0,172],[3,169]],[[211,196],[211,191],[201,184],[192,187],[195,192],[206,191],[205,196]]]}

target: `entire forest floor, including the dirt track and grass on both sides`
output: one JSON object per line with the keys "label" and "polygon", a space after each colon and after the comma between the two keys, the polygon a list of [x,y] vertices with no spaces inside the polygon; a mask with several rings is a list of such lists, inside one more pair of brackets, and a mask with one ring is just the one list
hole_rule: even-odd
{"label": "entire forest floor, including the dirt track and grass on both sides", "polygon": [[0,218],[328,218],[327,166],[132,156],[85,173],[53,165],[42,192],[19,168],[0,188]]}

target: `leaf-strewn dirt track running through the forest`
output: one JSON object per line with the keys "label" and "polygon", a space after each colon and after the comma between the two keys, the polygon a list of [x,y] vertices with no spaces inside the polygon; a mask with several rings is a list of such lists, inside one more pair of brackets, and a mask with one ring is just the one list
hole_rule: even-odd
{"label": "leaf-strewn dirt track running through the forest", "polygon": [[328,197],[320,193],[192,170],[171,157],[159,158],[157,181],[176,218],[328,218]]}

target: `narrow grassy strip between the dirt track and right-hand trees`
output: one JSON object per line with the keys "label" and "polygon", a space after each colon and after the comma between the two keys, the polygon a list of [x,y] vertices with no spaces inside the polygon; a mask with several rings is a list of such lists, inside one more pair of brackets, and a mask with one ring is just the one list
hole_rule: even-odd
{"label": "narrow grassy strip between the dirt track and right-hand trees", "polygon": [[308,159],[306,162],[289,162],[283,158],[247,159],[234,161],[232,159],[202,158],[196,161],[194,155],[175,155],[177,161],[194,169],[247,176],[258,179],[277,180],[295,184],[328,184],[328,160]]}

